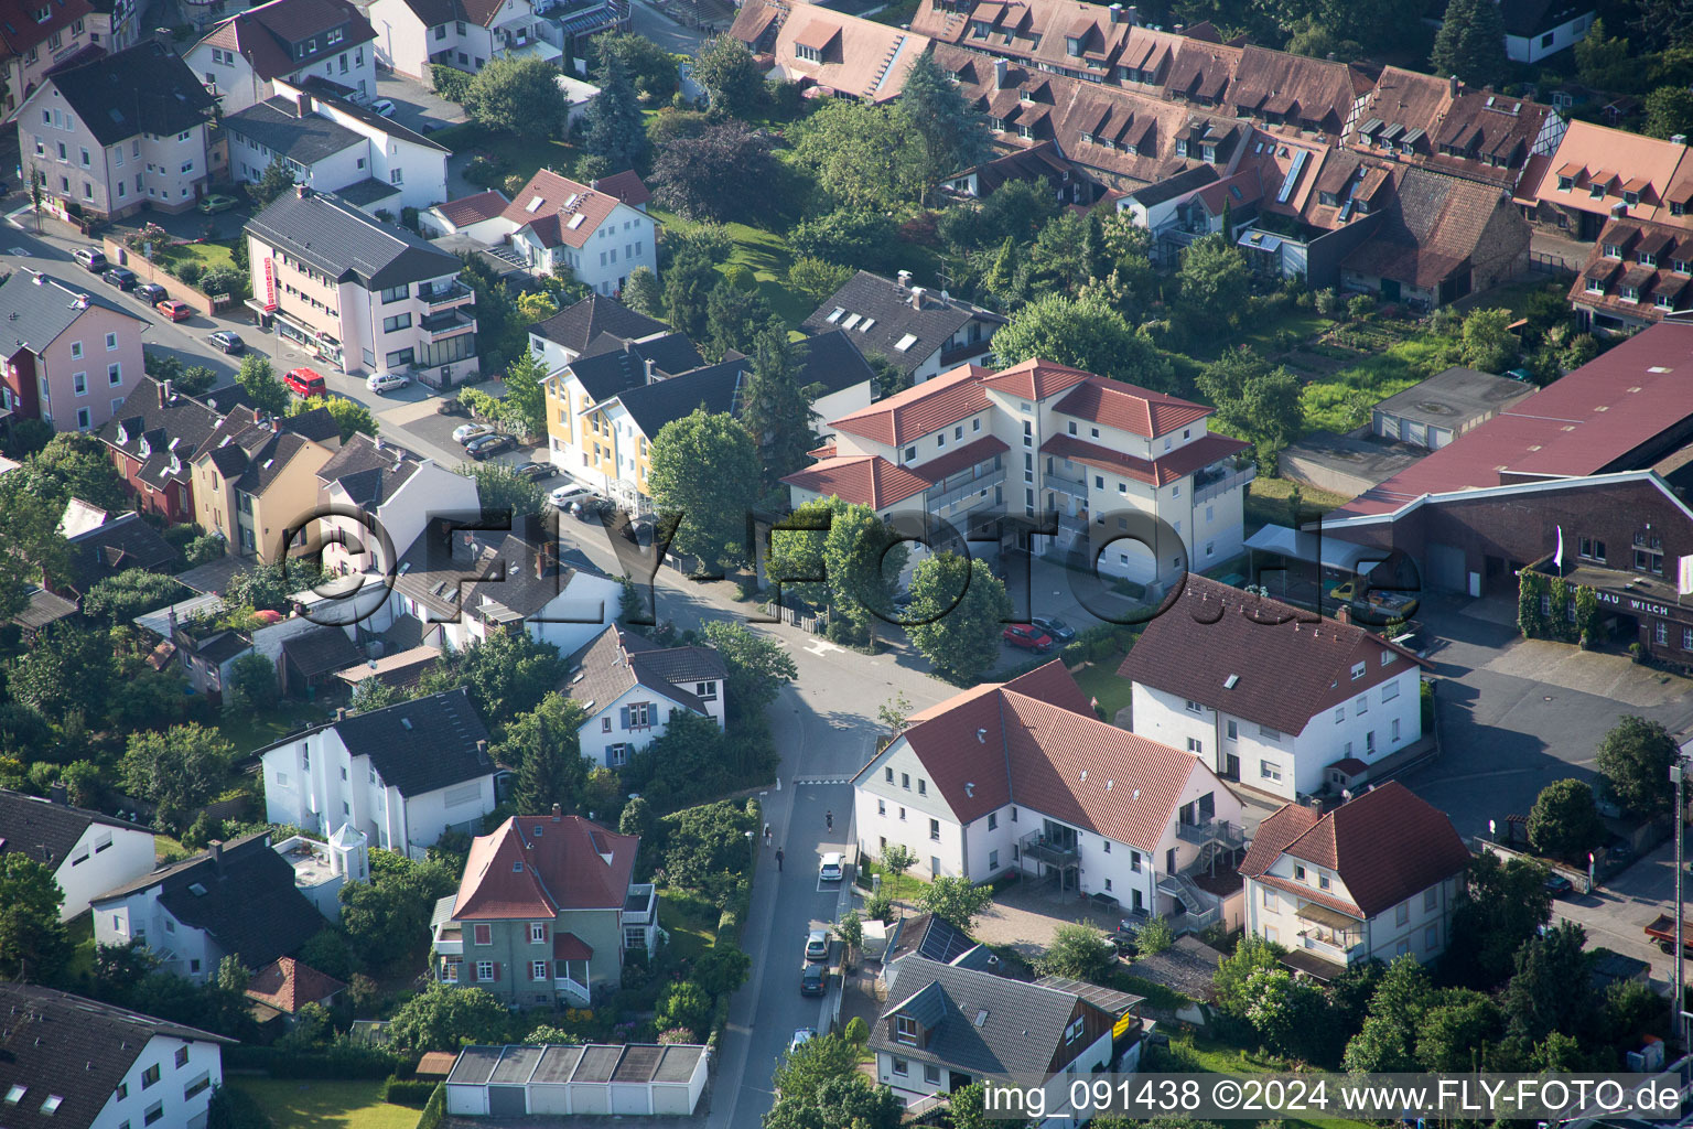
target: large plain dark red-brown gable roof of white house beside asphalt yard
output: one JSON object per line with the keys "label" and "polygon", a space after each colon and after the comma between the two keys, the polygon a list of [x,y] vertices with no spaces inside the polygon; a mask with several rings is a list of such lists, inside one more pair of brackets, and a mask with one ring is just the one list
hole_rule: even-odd
{"label": "large plain dark red-brown gable roof of white house beside asphalt yard", "polygon": [[[1117,674],[1295,736],[1365,689],[1422,665],[1402,647],[1337,620],[1190,572],[1146,625]],[[1381,655],[1393,658],[1383,665]],[[1353,679],[1356,664],[1363,677]],[[1234,675],[1234,686],[1227,686]]]}

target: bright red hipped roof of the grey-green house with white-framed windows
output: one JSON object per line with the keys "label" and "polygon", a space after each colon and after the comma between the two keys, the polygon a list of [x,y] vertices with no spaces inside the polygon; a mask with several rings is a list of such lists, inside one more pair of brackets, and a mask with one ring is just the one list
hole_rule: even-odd
{"label": "bright red hipped roof of the grey-green house with white-framed windows", "polygon": [[513,816],[471,843],[452,919],[552,919],[562,909],[623,906],[638,846],[638,834],[581,816]]}

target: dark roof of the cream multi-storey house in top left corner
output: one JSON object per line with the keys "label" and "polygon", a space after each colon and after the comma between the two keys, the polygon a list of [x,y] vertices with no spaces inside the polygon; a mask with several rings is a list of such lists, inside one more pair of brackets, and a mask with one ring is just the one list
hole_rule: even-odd
{"label": "dark roof of the cream multi-storey house in top left corner", "polygon": [[135,134],[179,134],[212,117],[212,95],[181,56],[149,39],[81,66],[52,85],[102,146]]}

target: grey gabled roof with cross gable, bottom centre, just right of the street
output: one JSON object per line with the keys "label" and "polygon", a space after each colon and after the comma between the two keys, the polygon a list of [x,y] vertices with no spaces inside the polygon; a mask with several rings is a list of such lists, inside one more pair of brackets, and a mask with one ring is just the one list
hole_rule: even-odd
{"label": "grey gabled roof with cross gable, bottom centre, just right of the street", "polygon": [[[1070,992],[924,956],[907,956],[887,975],[889,1002],[884,1022],[870,1026],[870,1048],[979,1077],[1043,1082],[1077,1005]],[[907,1007],[929,1019],[926,1046],[889,1038],[885,1021]]]}

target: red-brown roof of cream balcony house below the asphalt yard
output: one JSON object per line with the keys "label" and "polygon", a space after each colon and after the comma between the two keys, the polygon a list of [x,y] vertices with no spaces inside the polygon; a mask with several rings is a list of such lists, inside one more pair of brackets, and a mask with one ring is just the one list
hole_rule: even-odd
{"label": "red-brown roof of cream balcony house below the asphalt yard", "polygon": [[[1241,873],[1263,878],[1280,855],[1326,867],[1341,875],[1353,906],[1365,917],[1375,917],[1415,897],[1436,882],[1470,867],[1470,848],[1453,829],[1441,809],[1417,797],[1403,784],[1392,780],[1321,819],[1288,804],[1258,826],[1258,836],[1280,841],[1275,853],[1255,841],[1241,863]],[[1310,900],[1314,887],[1277,882]],[[1327,899],[1341,902],[1341,899]],[[1341,902],[1344,906],[1344,902]]]}

